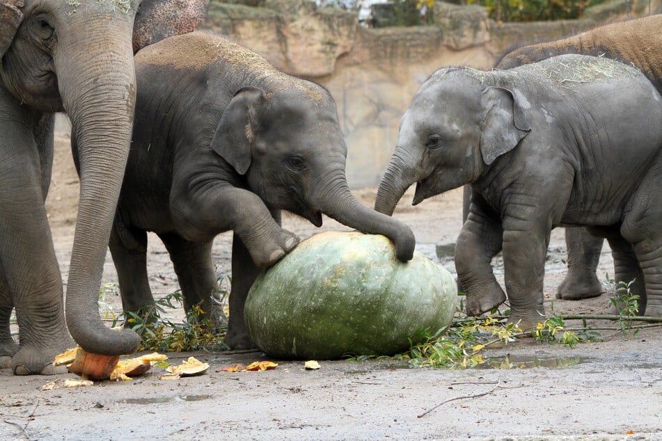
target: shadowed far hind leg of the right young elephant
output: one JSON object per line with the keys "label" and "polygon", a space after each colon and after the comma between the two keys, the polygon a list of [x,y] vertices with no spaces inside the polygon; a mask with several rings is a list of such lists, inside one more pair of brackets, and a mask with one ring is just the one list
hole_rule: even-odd
{"label": "shadowed far hind leg of the right young elephant", "polygon": [[[646,311],[646,283],[644,273],[639,266],[639,260],[634,252],[634,249],[628,241],[623,239],[620,234],[617,236],[608,237],[609,246],[611,248],[611,255],[614,259],[614,280],[615,282],[629,283],[631,294],[638,294],[638,314],[643,315]],[[617,285],[617,287],[622,285]],[[622,291],[613,293],[615,298],[618,298]],[[624,304],[617,302],[613,312],[619,314],[624,308]]]}

